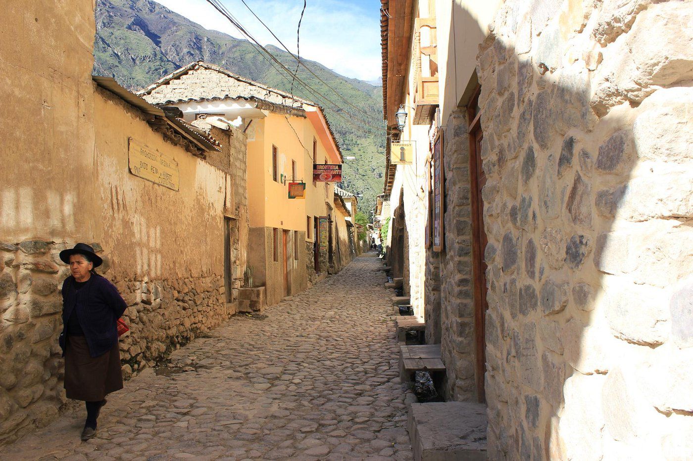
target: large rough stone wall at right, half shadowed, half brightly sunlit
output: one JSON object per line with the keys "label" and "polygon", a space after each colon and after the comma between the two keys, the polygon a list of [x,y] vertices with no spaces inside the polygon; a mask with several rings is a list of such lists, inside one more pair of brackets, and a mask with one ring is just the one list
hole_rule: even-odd
{"label": "large rough stone wall at right, half shadowed, half brightly sunlit", "polygon": [[491,459],[693,453],[691,24],[506,1],[480,48]]}

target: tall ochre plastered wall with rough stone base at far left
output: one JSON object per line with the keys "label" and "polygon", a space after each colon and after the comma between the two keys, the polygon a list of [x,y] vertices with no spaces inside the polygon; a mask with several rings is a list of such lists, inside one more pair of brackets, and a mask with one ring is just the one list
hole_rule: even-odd
{"label": "tall ochre plastered wall with rough stone base at far left", "polygon": [[13,106],[0,124],[2,444],[58,414],[62,303],[43,241],[77,235],[100,207],[79,186],[94,150],[94,3],[5,2],[0,30],[0,96]]}

